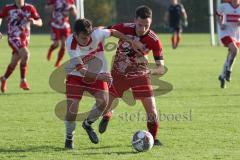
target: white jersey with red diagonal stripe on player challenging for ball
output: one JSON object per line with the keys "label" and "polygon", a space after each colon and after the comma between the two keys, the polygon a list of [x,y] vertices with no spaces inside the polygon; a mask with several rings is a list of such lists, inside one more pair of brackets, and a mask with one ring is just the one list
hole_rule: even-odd
{"label": "white jersey with red diagonal stripe on player challenging for ball", "polygon": [[[108,71],[107,61],[104,55],[104,40],[111,36],[109,29],[96,29],[90,36],[90,41],[86,46],[80,45],[73,34],[67,39],[67,52],[70,56],[70,64],[66,67],[66,72],[71,75],[83,76],[76,70],[82,66],[92,73],[106,73]],[[76,60],[78,58],[78,60]],[[80,58],[80,59],[79,59]],[[79,60],[81,62],[79,62]]]}

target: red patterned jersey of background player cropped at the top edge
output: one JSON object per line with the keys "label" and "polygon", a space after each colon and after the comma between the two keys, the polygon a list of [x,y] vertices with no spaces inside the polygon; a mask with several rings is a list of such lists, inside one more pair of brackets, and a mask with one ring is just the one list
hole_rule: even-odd
{"label": "red patterned jersey of background player cropped at the top edge", "polygon": [[74,0],[48,0],[48,5],[53,5],[51,26],[54,28],[70,28],[68,12]]}

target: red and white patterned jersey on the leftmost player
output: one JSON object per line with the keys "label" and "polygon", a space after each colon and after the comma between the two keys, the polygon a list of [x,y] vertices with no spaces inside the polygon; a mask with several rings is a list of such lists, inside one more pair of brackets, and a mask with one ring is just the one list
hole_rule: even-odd
{"label": "red and white patterned jersey on the leftmost player", "polygon": [[6,5],[0,11],[0,18],[7,18],[9,38],[28,39],[30,36],[29,19],[38,20],[40,16],[34,6],[25,3],[21,8],[18,8],[16,4]]}

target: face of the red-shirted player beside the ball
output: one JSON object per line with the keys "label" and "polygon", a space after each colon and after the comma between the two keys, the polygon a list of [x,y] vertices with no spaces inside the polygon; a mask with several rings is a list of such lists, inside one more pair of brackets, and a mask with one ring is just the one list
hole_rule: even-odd
{"label": "face of the red-shirted player beside the ball", "polygon": [[142,19],[140,17],[135,18],[135,23],[136,23],[136,33],[138,36],[142,36],[148,32],[150,29],[152,19],[151,18],[146,18]]}

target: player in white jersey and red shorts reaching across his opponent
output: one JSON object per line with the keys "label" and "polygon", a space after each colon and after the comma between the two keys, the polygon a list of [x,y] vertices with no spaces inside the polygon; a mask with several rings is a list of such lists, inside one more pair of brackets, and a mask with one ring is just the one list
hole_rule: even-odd
{"label": "player in white jersey and red shorts reaching across his opponent", "polygon": [[93,95],[96,103],[82,123],[82,127],[86,130],[91,142],[98,143],[98,137],[91,124],[102,115],[108,103],[108,87],[111,85],[112,77],[107,70],[103,43],[110,36],[130,42],[139,54],[143,48],[140,42],[131,40],[114,29],[93,30],[91,22],[87,19],[76,20],[73,34],[67,39],[67,52],[70,56],[70,64],[66,68],[65,148],[67,149],[73,148],[78,105],[84,91]]}

